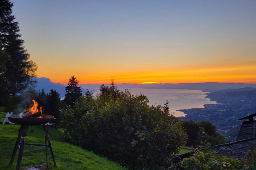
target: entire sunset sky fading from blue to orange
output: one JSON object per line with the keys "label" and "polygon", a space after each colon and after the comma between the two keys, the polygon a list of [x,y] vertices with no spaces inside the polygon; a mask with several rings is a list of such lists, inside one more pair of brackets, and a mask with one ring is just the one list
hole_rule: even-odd
{"label": "entire sunset sky fading from blue to orange", "polygon": [[256,1],[13,0],[37,76],[256,84]]}

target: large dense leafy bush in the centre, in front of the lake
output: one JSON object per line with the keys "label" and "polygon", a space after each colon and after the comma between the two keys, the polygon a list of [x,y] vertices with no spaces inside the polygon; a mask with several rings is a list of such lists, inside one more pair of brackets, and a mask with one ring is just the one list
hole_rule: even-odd
{"label": "large dense leafy bush in the centre, in front of the lake", "polygon": [[73,108],[62,109],[65,137],[131,168],[167,167],[185,144],[179,120],[167,105],[149,106],[144,95],[117,94],[105,100],[87,92]]}

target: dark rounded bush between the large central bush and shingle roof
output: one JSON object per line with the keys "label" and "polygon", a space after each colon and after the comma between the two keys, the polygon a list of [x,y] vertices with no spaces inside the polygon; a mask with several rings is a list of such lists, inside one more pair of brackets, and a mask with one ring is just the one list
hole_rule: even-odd
{"label": "dark rounded bush between the large central bush and shingle roof", "polygon": [[212,145],[218,145],[221,143],[226,143],[224,136],[216,131],[215,125],[209,121],[193,122],[182,121],[182,127],[188,135],[188,140],[186,146],[197,146],[200,145],[200,141],[208,141]]}

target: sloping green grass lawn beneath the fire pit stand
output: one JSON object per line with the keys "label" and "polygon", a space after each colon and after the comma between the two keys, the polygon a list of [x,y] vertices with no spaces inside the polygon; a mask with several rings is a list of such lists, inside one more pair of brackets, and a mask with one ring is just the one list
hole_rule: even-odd
{"label": "sloping green grass lawn beneath the fire pit stand", "polygon": [[[0,169],[15,169],[18,151],[14,163],[9,166],[12,151],[18,135],[19,125],[0,125]],[[42,126],[33,126],[34,132],[29,127],[26,143],[44,143],[45,133]],[[62,142],[62,132],[54,127],[49,128],[49,137],[53,148],[56,169],[125,169],[119,164],[100,157],[92,152],[77,146]],[[25,145],[24,152],[40,148],[40,146]],[[45,150],[25,154],[22,166],[46,163]],[[53,164],[53,163],[52,163]],[[21,168],[22,169],[22,168]],[[53,168],[55,169],[55,168]]]}

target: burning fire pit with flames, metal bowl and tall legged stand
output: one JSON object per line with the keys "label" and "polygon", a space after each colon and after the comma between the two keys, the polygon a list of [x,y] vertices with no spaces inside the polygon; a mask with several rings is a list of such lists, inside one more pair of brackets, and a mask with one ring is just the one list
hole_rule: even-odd
{"label": "burning fire pit with flames, metal bowl and tall legged stand", "polygon": [[[53,159],[54,166],[56,167],[56,162],[55,162],[53,150],[51,148],[51,143],[50,143],[50,139],[49,139],[49,135],[48,135],[48,127],[45,125],[45,123],[50,123],[51,121],[53,121],[54,116],[42,114],[42,107],[40,107],[40,109],[38,110],[38,103],[35,100],[32,100],[32,102],[34,102],[34,105],[31,108],[25,110],[25,112],[23,112],[19,115],[12,115],[12,116],[8,117],[9,121],[16,123],[18,125],[21,125],[16,143],[15,143],[15,146],[14,146],[14,149],[12,152],[11,161],[10,161],[10,164],[12,164],[14,161],[17,149],[19,149],[20,151],[18,154],[16,170],[20,169],[23,154],[40,151],[40,150],[46,151],[47,167],[48,167],[48,159],[49,159],[50,166],[51,166],[50,154],[49,154],[48,149],[50,149],[51,157]],[[27,130],[28,130],[29,126],[31,126],[31,125],[42,125],[43,126],[43,129],[45,131],[45,143],[44,144],[25,143],[25,138],[27,136]],[[34,145],[34,146],[44,146],[44,147],[23,153],[24,145]]]}

